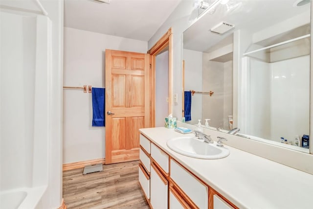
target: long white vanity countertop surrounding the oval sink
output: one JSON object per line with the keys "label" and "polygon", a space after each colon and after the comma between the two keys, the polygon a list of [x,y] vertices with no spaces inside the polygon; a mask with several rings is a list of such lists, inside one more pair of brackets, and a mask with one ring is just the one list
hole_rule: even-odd
{"label": "long white vanity countertop surrounding the oval sink", "polygon": [[191,158],[174,152],[166,142],[194,134],[164,127],[140,132],[238,208],[313,209],[313,175],[309,173],[226,145],[230,151],[226,158]]}

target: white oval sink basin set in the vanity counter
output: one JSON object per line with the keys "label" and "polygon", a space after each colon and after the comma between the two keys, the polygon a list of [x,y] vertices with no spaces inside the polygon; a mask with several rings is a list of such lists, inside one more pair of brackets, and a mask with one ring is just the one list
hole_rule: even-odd
{"label": "white oval sink basin set in the vanity counter", "polygon": [[167,141],[167,146],[173,151],[201,159],[220,159],[229,155],[229,150],[216,146],[216,143],[209,144],[194,137],[178,137]]}

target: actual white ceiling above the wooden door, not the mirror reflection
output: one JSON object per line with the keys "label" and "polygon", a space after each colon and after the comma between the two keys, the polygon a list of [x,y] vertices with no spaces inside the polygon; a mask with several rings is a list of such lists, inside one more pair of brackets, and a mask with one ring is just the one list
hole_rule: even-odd
{"label": "actual white ceiling above the wooden door, not the mirror reflection", "polygon": [[181,0],[65,0],[64,26],[149,41]]}

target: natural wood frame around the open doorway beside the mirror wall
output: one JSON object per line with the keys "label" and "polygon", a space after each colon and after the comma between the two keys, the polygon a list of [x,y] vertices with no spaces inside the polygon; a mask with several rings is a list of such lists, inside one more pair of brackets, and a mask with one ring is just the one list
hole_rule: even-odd
{"label": "natural wood frame around the open doorway beside the mirror wall", "polygon": [[156,55],[168,47],[168,113],[172,113],[172,72],[173,72],[172,27],[148,50],[150,54],[150,127],[156,126]]}

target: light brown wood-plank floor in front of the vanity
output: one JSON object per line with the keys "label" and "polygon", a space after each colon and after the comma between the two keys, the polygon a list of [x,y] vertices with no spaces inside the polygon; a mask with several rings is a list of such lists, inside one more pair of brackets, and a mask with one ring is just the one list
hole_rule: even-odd
{"label": "light brown wood-plank floor in front of the vanity", "polygon": [[83,175],[83,168],[63,172],[67,209],[149,209],[138,182],[138,161],[103,165]]}

